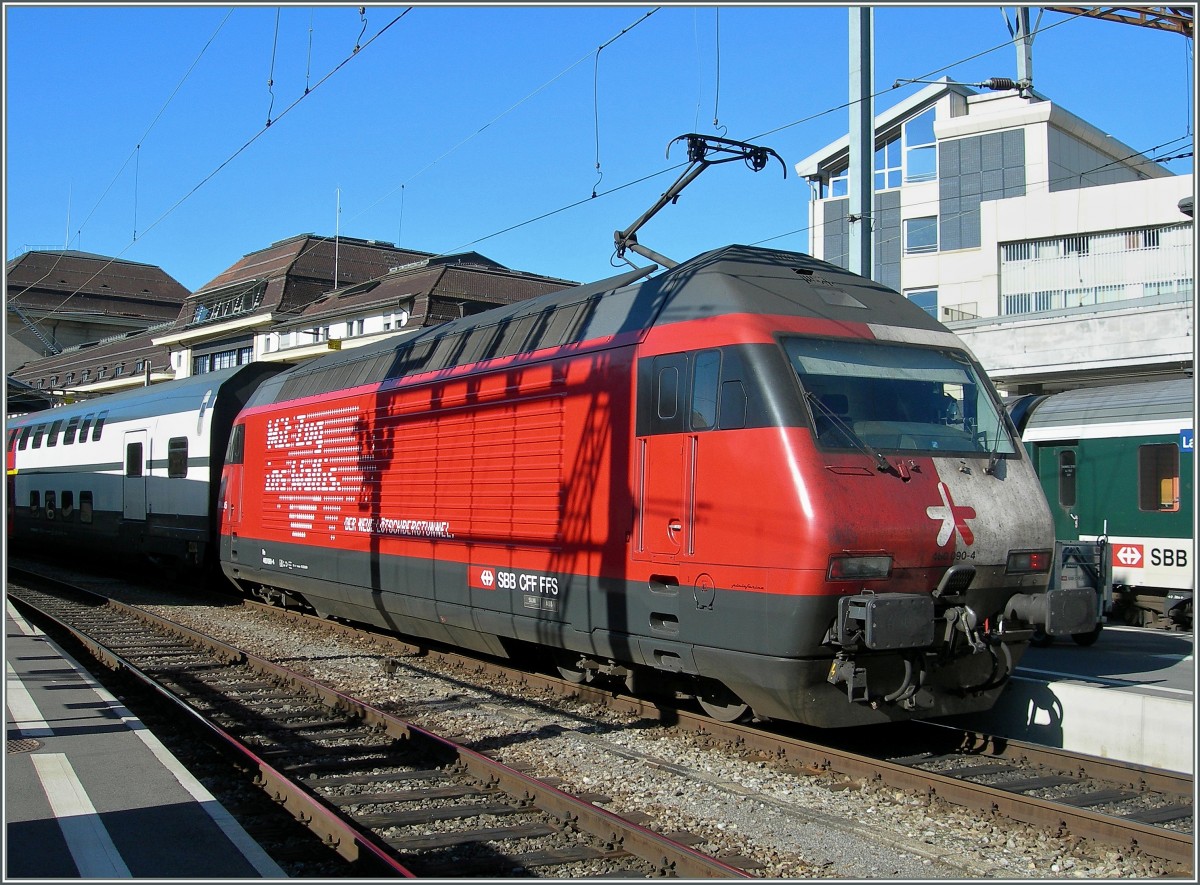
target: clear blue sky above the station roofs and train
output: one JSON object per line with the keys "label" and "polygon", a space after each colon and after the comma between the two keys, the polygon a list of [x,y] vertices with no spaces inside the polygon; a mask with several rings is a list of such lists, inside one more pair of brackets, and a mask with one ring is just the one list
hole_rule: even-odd
{"label": "clear blue sky above the station roofs and train", "polygon": [[[712,167],[643,243],[808,248],[793,165],[847,131],[846,7],[365,8],[6,5],[6,259],[68,245],[196,290],[312,231],[587,282],[688,132],[772,148],[787,176]],[[922,88],[900,78],[1016,77],[1006,7],[875,8],[877,112]],[[1190,41],[1055,12],[1040,29],[1039,92],[1192,171]]]}

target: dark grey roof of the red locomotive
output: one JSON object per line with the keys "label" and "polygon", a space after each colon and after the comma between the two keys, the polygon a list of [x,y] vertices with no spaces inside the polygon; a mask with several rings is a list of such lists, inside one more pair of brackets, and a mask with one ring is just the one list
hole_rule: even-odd
{"label": "dark grey roof of the red locomotive", "polygon": [[264,384],[251,405],[545,348],[607,347],[617,336],[641,336],[655,325],[738,313],[946,331],[899,293],[799,252],[726,246],[642,279],[652,270],[322,356]]}

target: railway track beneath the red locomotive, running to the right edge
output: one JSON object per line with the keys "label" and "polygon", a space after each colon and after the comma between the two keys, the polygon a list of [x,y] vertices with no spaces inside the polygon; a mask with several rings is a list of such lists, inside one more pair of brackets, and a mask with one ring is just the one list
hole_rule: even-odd
{"label": "railway track beneath the red locomotive, running to the right edge", "polygon": [[[341,630],[354,637],[370,636],[383,656],[394,656],[392,668],[420,654],[422,666],[436,664],[492,686],[506,685],[514,694],[557,692],[604,704],[642,718],[670,721],[714,747],[769,760],[806,775],[835,775],[851,788],[887,784],[910,795],[940,797],[973,809],[983,819],[1010,819],[1054,833],[1092,839],[1180,865],[1180,874],[1193,868],[1192,778],[1093,757],[1049,749],[1015,741],[989,739],[926,723],[883,732],[870,729],[862,746],[852,732],[838,734],[838,747],[815,733],[799,729],[772,732],[762,726],[725,724],[670,705],[616,694],[602,686],[577,685],[553,676],[514,670],[454,650],[414,646],[394,637],[364,633],[356,627],[271,607],[247,607],[294,620],[322,631]],[[872,747],[890,747],[886,755]],[[752,867],[752,865],[750,865]]]}

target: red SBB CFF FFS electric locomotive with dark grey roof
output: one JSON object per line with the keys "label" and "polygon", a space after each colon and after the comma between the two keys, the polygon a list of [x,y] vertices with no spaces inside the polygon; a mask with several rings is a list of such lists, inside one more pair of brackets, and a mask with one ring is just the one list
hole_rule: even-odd
{"label": "red SBB CFF FFS electric locomotive with dark grey roof", "polygon": [[1050,512],[982,368],[901,295],[730,246],[265,380],[221,566],[247,592],[719,718],[988,709],[1046,592]]}

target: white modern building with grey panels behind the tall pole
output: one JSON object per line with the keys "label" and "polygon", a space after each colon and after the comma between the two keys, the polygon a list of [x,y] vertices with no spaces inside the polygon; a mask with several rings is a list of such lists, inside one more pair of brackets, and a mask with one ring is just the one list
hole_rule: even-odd
{"label": "white modern building with grey panels behind the tall pole", "polygon": [[[1006,392],[1193,369],[1193,176],[1037,92],[942,80],[875,118],[872,278]],[[850,137],[796,164],[810,251],[848,266]],[[1184,212],[1186,207],[1186,212]]]}

